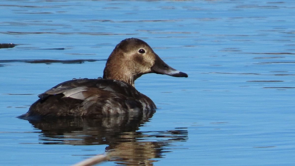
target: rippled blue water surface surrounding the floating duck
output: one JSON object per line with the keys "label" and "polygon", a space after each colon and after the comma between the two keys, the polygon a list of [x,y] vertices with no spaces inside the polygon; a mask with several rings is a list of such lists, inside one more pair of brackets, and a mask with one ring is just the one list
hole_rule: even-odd
{"label": "rippled blue water surface surrounding the floating duck", "polygon": [[[101,165],[294,165],[294,8],[291,0],[1,1],[0,43],[17,46],[0,49],[0,164],[72,165],[115,149]],[[60,82],[102,76],[128,37],[189,75],[135,82],[158,106],[153,117],[15,118]]]}

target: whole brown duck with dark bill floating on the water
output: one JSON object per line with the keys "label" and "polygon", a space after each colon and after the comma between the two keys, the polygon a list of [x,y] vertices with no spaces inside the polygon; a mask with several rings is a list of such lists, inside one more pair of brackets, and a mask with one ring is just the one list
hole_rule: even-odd
{"label": "whole brown duck with dark bill floating on the water", "polygon": [[109,55],[103,77],[73,79],[38,95],[20,119],[91,117],[153,114],[155,103],[135,89],[134,81],[143,74],[156,73],[188,77],[167,65],[143,40],[127,38]]}

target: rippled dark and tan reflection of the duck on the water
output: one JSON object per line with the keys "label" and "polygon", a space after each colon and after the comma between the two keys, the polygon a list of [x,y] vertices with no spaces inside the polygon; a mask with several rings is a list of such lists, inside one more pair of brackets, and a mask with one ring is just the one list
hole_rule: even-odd
{"label": "rippled dark and tan reflection of the duck on the water", "polygon": [[186,128],[169,131],[137,131],[153,115],[140,118],[113,116],[100,119],[60,118],[29,120],[41,130],[42,144],[101,145],[106,144],[109,161],[120,165],[153,165],[154,158],[163,157],[165,146],[186,141]]}

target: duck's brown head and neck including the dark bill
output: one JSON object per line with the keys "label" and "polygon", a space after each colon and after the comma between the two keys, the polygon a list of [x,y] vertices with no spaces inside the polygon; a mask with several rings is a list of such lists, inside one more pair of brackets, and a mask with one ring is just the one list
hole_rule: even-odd
{"label": "duck's brown head and neck including the dark bill", "polygon": [[103,78],[122,80],[134,86],[134,81],[146,73],[188,77],[167,65],[146,42],[128,38],[122,40],[109,56]]}

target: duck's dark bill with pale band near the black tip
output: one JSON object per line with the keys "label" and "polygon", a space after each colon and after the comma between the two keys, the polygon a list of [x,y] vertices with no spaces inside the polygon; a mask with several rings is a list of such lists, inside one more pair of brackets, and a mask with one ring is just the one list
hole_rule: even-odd
{"label": "duck's dark bill with pale band near the black tip", "polygon": [[155,64],[151,68],[151,72],[157,74],[170,75],[173,77],[188,77],[186,73],[171,68],[158,55],[156,55]]}

